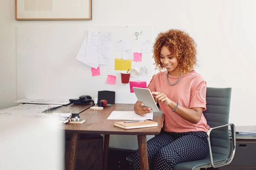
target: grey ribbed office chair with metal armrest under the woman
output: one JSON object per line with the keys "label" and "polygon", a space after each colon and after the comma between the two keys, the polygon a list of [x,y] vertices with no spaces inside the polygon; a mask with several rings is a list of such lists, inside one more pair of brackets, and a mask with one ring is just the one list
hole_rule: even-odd
{"label": "grey ribbed office chair with metal armrest under the woman", "polygon": [[[204,159],[188,161],[175,165],[175,170],[195,170],[195,168],[218,168],[232,161],[236,150],[236,130],[233,123],[228,123],[231,88],[207,88],[207,110],[203,112],[207,124],[209,154]],[[231,127],[232,148],[228,126]],[[132,154],[127,157],[133,162]]]}

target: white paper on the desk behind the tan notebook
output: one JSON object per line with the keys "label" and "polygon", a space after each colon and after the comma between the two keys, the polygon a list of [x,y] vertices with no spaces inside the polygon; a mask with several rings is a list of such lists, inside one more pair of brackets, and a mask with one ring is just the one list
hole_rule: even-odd
{"label": "white paper on the desk behind the tan notebook", "polygon": [[112,111],[108,119],[113,120],[153,120],[153,113],[148,113],[146,116],[140,116],[134,111]]}

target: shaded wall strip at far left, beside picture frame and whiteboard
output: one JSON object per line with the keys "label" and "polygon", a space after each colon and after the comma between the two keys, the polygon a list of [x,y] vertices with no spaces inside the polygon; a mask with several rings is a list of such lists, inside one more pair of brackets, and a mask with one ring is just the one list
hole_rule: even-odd
{"label": "shaded wall strip at far left, beside picture frame and whiteboard", "polygon": [[0,109],[16,100],[15,1],[0,1]]}

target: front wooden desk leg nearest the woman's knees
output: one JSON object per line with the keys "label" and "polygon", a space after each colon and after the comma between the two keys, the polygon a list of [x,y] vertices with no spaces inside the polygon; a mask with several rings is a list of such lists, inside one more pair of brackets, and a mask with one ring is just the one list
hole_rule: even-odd
{"label": "front wooden desk leg nearest the woman's knees", "polygon": [[147,138],[145,135],[138,135],[138,145],[140,154],[140,168],[141,170],[148,170],[148,148]]}

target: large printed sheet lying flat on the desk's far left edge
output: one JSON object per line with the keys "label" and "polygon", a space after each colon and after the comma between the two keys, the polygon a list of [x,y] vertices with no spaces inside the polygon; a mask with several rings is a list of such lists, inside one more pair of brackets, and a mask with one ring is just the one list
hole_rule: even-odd
{"label": "large printed sheet lying flat on the desk's far left edge", "polygon": [[14,106],[12,108],[3,109],[0,111],[0,115],[2,116],[19,116],[19,115],[29,115],[36,114],[46,111],[48,109],[57,108],[62,105],[35,105],[35,104],[21,104]]}

